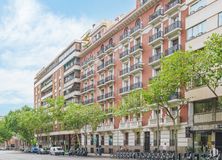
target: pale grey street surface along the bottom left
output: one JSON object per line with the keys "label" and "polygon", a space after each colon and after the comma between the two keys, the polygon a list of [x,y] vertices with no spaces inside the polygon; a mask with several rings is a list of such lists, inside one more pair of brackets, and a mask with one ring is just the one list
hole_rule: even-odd
{"label": "pale grey street surface along the bottom left", "polygon": [[69,156],[52,156],[52,155],[38,155],[31,153],[22,153],[18,151],[0,151],[0,160],[108,160],[110,158],[104,157],[69,157]]}

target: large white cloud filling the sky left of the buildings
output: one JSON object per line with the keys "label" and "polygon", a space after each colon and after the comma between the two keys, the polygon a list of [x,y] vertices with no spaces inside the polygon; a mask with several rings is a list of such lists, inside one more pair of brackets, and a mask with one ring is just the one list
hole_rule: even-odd
{"label": "large white cloud filling the sky left of the buildings", "polygon": [[0,15],[0,104],[33,103],[34,76],[93,24],[53,14],[37,0],[10,0]]}

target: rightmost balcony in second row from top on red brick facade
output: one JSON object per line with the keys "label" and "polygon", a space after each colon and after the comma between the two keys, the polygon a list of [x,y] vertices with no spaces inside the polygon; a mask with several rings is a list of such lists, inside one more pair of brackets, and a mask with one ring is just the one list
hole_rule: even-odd
{"label": "rightmost balcony in second row from top on red brick facade", "polygon": [[173,37],[182,30],[181,21],[175,21],[165,28],[165,36]]}

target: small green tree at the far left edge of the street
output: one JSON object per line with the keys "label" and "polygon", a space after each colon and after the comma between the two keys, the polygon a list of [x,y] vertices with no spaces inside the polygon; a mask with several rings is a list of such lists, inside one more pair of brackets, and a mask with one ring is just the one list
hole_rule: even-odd
{"label": "small green tree at the far left edge of the street", "polygon": [[5,120],[0,120],[0,143],[7,142],[11,138],[12,132],[6,127]]}

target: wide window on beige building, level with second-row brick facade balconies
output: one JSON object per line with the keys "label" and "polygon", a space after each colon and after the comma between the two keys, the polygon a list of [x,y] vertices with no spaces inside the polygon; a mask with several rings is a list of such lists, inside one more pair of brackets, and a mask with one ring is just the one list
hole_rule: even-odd
{"label": "wide window on beige building, level with second-row brick facade balconies", "polygon": [[187,30],[187,40],[193,39],[202,35],[205,32],[205,21],[191,27]]}

